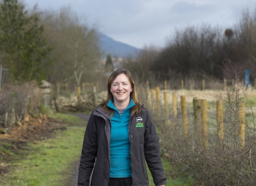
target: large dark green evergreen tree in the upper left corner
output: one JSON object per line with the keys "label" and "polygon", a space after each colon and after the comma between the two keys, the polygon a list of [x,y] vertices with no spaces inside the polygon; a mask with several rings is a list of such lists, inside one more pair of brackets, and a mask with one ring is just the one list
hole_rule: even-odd
{"label": "large dark green evergreen tree in the upper left corner", "polygon": [[17,0],[3,0],[0,8],[0,50],[12,81],[42,80],[52,48],[43,37],[38,16],[28,15]]}

